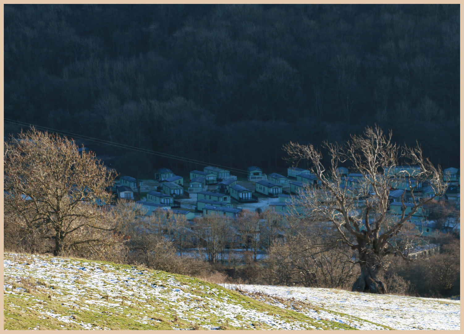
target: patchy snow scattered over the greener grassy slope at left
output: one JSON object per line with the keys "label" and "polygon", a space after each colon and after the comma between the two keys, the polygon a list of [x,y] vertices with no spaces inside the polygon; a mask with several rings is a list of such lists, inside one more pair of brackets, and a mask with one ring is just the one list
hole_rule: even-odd
{"label": "patchy snow scattered over the greener grassy slope at left", "polygon": [[[190,277],[182,276],[183,281],[180,281],[180,278],[163,272],[153,273],[129,266],[102,265],[43,255],[4,253],[4,256],[4,294],[8,307],[22,309],[21,306],[15,306],[15,300],[25,299],[29,305],[32,304],[27,308],[41,314],[41,319],[52,317],[62,323],[61,327],[71,323],[82,329],[106,329],[101,324],[97,325],[97,320],[95,323],[74,320],[72,314],[88,311],[96,314],[97,318],[97,314],[100,314],[98,317],[107,316],[111,311],[110,314],[129,317],[131,321],[148,326],[143,329],[149,329],[149,326],[154,326],[153,321],[156,321],[153,314],[172,319],[170,309],[175,309],[181,321],[192,324],[200,322],[200,327],[205,329],[218,329],[218,319],[219,323],[227,320],[230,326],[248,326],[251,329],[255,326],[253,323],[263,324],[271,329],[316,329],[333,326],[320,319],[308,322],[309,320],[303,321],[307,319],[304,317],[289,321],[273,312],[261,312],[248,307],[246,301],[237,300],[227,289],[214,288]],[[39,297],[27,294],[24,288],[15,287],[14,282],[18,282],[21,277],[31,277],[33,281],[40,280],[52,285],[53,298],[49,296],[50,301],[53,299],[60,304],[62,310],[58,313],[47,308],[48,293]],[[148,303],[148,300],[155,304]],[[130,305],[138,305],[138,310],[142,312],[134,313],[129,308]],[[21,312],[28,310],[24,308]],[[7,315],[5,314],[6,317]],[[215,325],[212,319],[216,319]],[[106,318],[104,323],[110,326],[110,321],[111,318]],[[173,329],[180,329],[175,326],[179,325],[173,323]]]}

